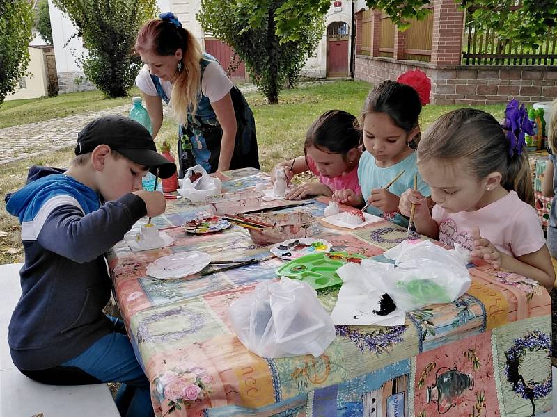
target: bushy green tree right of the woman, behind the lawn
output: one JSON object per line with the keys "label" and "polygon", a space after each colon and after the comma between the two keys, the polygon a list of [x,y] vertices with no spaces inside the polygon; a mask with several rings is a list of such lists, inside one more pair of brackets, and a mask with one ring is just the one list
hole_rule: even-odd
{"label": "bushy green tree right of the woman, behind the lawn", "polygon": [[201,0],[196,16],[205,31],[244,61],[269,104],[278,103],[286,79],[291,81],[324,32],[328,0]]}

